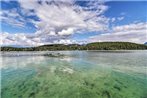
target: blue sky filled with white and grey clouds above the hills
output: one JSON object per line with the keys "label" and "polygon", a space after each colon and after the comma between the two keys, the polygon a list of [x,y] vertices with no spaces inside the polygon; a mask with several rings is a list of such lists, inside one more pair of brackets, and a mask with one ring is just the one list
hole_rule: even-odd
{"label": "blue sky filled with white and grey clouds above the hills", "polygon": [[147,1],[1,0],[0,45],[147,42]]}

